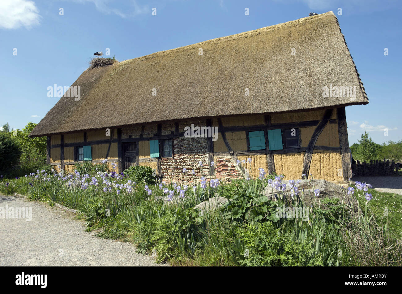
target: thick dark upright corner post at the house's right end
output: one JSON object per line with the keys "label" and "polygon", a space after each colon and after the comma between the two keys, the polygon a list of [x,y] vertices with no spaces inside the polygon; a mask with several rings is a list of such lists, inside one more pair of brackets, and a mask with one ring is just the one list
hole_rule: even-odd
{"label": "thick dark upright corner post at the house's right end", "polygon": [[348,139],[348,128],[346,124],[345,107],[339,107],[338,109],[336,109],[336,115],[338,118],[339,146],[340,146],[340,155],[342,157],[343,180],[349,181],[349,178],[352,177],[352,167],[351,167],[351,156],[349,153],[349,139]]}

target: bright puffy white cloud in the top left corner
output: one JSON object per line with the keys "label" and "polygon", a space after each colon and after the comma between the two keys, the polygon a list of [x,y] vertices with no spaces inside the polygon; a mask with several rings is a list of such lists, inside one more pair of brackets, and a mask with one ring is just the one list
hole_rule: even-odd
{"label": "bright puffy white cloud in the top left corner", "polygon": [[18,29],[22,26],[27,29],[39,25],[39,10],[35,2],[29,0],[1,0],[0,28]]}

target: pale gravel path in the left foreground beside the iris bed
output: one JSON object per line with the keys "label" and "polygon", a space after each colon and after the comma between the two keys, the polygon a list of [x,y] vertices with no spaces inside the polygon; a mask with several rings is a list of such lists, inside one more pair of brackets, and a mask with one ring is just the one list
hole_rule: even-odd
{"label": "pale gravel path in the left foreground beside the iris bed", "polygon": [[[0,209],[31,207],[32,220],[0,218],[0,266],[163,266],[130,243],[96,238],[75,214],[0,195]],[[165,264],[166,266],[166,264]]]}

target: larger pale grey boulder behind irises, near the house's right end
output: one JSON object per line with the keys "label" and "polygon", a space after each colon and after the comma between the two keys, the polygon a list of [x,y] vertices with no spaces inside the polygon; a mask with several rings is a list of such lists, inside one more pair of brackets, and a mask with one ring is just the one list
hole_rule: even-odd
{"label": "larger pale grey boulder behind irises, near the house's right end", "polygon": [[[289,181],[282,181],[282,183],[286,184],[284,193],[290,195]],[[345,200],[347,205],[349,205],[348,198],[349,201],[351,201],[351,197],[345,197],[345,195],[347,195],[347,188],[325,180],[301,180],[300,184],[295,184],[295,186],[299,189],[299,197],[304,199],[305,203],[308,205],[318,201],[318,199],[326,197],[338,198],[339,203]],[[315,189],[320,190],[318,197],[314,196]],[[263,193],[270,199],[278,197],[278,192],[271,186],[265,187]],[[355,204],[353,210],[356,209],[357,206]]]}

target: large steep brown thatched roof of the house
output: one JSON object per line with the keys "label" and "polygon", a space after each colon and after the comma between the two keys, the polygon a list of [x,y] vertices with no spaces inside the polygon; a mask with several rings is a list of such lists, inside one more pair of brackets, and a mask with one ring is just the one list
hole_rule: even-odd
{"label": "large steep brown thatched roof of the house", "polygon": [[[324,98],[330,84],[356,86],[355,101]],[[368,103],[332,11],[86,70],[72,86],[80,101],[62,97],[30,136]]]}

